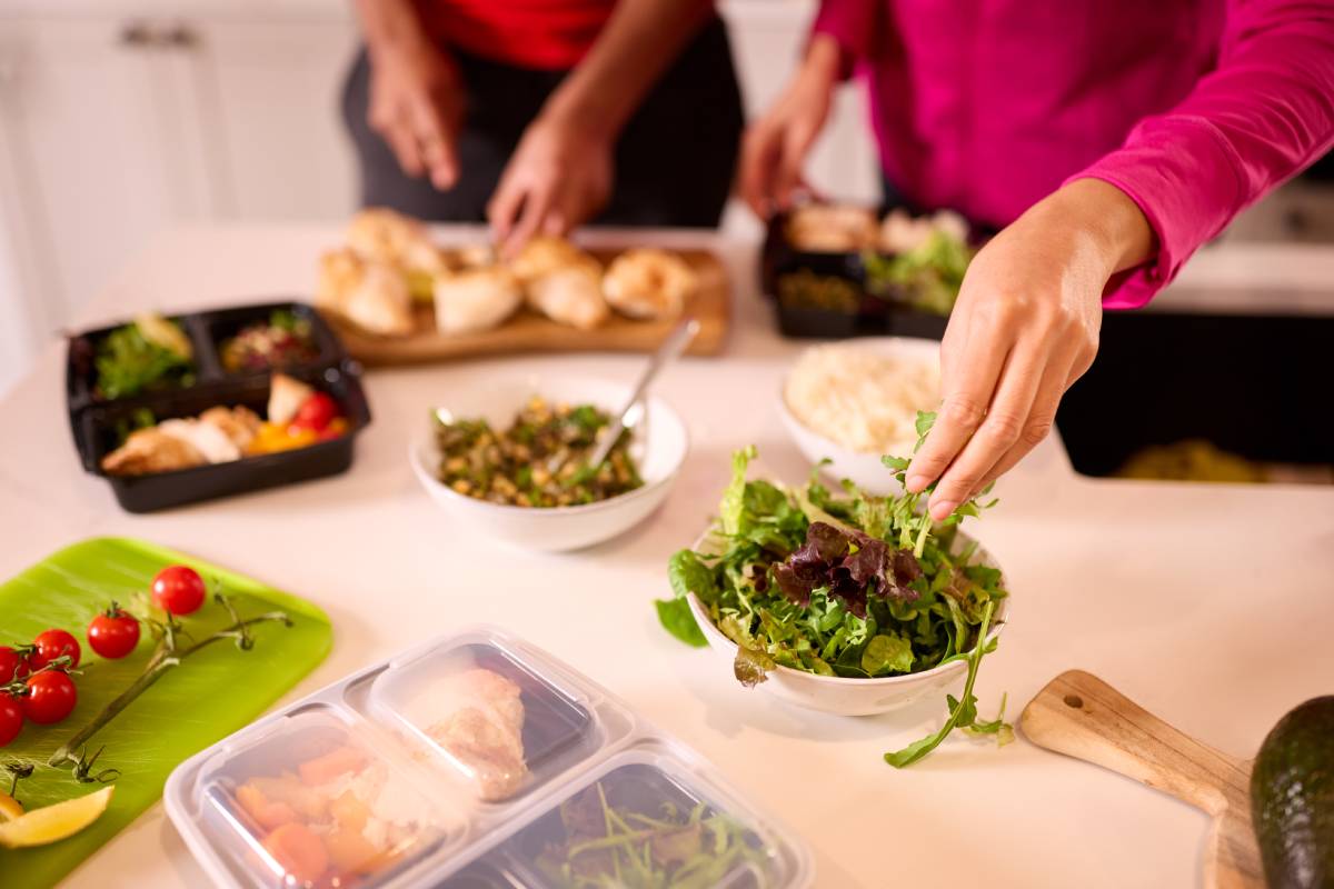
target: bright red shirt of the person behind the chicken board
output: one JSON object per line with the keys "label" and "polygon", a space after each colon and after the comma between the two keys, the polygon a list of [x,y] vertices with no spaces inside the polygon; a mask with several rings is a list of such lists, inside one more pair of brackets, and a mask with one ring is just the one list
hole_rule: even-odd
{"label": "bright red shirt of the person behind the chicken board", "polygon": [[584,57],[616,0],[416,0],[440,43],[519,68],[563,71]]}

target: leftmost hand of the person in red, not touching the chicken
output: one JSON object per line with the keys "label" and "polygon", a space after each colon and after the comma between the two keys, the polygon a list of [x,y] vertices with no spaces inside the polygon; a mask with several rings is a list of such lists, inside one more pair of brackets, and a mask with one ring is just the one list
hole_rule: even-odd
{"label": "leftmost hand of the person in red, not touching the chicken", "polygon": [[368,123],[404,173],[428,173],[440,191],[459,181],[455,140],[463,113],[463,80],[443,49],[420,36],[371,44]]}

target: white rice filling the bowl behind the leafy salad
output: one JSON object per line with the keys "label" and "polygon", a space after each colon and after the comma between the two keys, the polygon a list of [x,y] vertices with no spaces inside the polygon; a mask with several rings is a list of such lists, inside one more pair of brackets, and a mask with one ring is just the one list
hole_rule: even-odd
{"label": "white rice filling the bowl behind the leafy salad", "polygon": [[856,343],[816,345],[792,367],[783,397],[804,427],[850,450],[907,456],[918,411],[940,401],[940,368]]}

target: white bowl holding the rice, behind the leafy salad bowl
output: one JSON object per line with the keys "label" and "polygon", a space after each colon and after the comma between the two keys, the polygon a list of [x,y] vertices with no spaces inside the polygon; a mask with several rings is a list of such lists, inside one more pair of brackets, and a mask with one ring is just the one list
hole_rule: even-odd
{"label": "white bowl holding the rice, behind the leafy salad bowl", "polygon": [[[843,343],[847,345],[855,344],[860,348],[900,357],[906,361],[936,364],[940,360],[940,344],[935,340],[920,340],[904,336],[874,336],[844,340]],[[923,405],[923,409],[934,411],[935,405]],[[827,478],[832,481],[851,478],[859,488],[872,494],[891,494],[900,492],[899,482],[894,478],[894,473],[886,469],[880,462],[882,452],[863,453],[852,450],[832,439],[827,439],[815,429],[811,429],[802,423],[795,413],[792,413],[792,409],[787,405],[787,376],[783,377],[783,384],[778,391],[778,412],[783,417],[783,425],[787,427],[787,433],[792,437],[792,441],[796,443],[798,449],[806,456],[807,460],[812,464],[824,458],[832,461],[826,464],[820,470]],[[895,453],[895,456],[906,457],[914,444],[916,444],[915,436],[911,440],[904,440],[896,448],[891,446],[890,450],[902,452]]]}

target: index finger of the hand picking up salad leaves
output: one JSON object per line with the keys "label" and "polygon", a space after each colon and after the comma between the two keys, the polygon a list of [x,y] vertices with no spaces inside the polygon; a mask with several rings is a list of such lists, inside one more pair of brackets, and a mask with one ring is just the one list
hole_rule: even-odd
{"label": "index finger of the hand picking up salad leaves", "polygon": [[[950,325],[955,323],[963,323],[958,312]],[[982,425],[1011,341],[1009,331],[995,324],[974,325],[968,331],[959,357],[948,361],[954,371],[948,388],[942,383],[943,399],[935,425],[908,464],[906,485],[910,492],[916,493],[939,478]]]}

